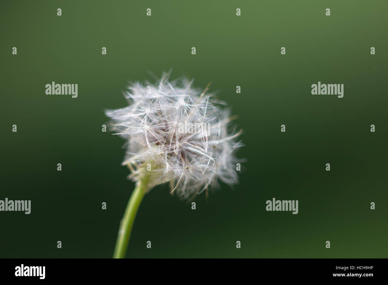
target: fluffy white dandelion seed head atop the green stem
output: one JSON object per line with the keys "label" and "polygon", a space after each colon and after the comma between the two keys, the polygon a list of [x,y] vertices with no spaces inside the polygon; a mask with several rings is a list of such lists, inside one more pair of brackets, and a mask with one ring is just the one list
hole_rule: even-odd
{"label": "fluffy white dandelion seed head atop the green stem", "polygon": [[169,73],[154,85],[131,83],[125,92],[129,106],[107,110],[115,135],[126,140],[123,165],[147,190],[170,183],[181,199],[217,186],[218,180],[238,182],[235,151],[241,131],[232,128],[225,102],[194,88],[186,78],[169,81]]}

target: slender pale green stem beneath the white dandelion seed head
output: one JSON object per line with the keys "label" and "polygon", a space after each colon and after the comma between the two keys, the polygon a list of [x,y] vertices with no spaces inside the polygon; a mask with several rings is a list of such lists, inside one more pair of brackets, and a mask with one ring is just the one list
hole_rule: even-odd
{"label": "slender pale green stem beneath the white dandelion seed head", "polygon": [[147,177],[140,183],[136,183],[135,190],[126,206],[124,217],[120,222],[120,228],[117,236],[116,247],[114,248],[113,258],[124,258],[126,249],[128,247],[129,238],[131,236],[133,222],[135,221],[137,210],[139,209],[140,203],[147,191]]}

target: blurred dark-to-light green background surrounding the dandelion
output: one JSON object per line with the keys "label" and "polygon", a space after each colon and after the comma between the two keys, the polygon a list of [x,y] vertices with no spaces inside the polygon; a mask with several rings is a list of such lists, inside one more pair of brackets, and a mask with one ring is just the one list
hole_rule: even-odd
{"label": "blurred dark-to-light green background surrounding the dandelion", "polygon": [[[154,188],[127,257],[388,257],[387,8],[3,1],[0,199],[31,200],[31,214],[0,212],[0,257],[112,256],[134,184],[120,165],[124,141],[101,131],[104,109],[126,106],[126,81],[170,68],[220,91],[239,115],[247,162],[239,185],[200,195],[196,210]],[[52,81],[77,83],[78,98],[46,95]],[[312,95],[318,81],[344,84],[344,97]],[[273,197],[299,200],[299,213],[267,212]]]}

